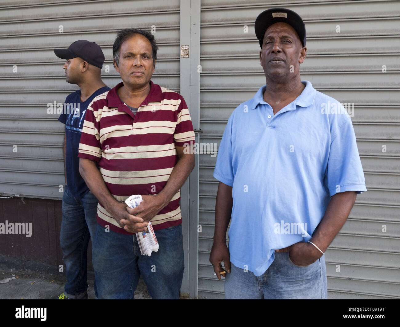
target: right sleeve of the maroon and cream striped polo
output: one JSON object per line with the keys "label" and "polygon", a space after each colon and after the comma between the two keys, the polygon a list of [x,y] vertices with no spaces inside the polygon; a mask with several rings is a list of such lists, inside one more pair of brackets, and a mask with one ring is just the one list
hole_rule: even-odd
{"label": "right sleeve of the maroon and cream striped polo", "polygon": [[190,119],[188,106],[184,98],[182,98],[178,107],[178,117],[174,132],[175,145],[177,147],[183,147],[185,143],[193,145],[194,139],[192,119]]}

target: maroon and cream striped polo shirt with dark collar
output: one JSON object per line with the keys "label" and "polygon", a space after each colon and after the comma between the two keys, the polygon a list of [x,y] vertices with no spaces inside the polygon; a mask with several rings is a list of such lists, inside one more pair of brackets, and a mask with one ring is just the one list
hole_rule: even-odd
{"label": "maroon and cream striped polo shirt with dark collar", "polygon": [[[150,81],[150,93],[136,115],[118,97],[119,83],[88,106],[79,145],[80,158],[98,162],[112,196],[124,202],[133,194],[158,194],[178,162],[176,147],[194,143],[194,131],[184,98]],[[151,220],[154,230],[182,223],[180,190]],[[99,202],[97,221],[121,228]]]}

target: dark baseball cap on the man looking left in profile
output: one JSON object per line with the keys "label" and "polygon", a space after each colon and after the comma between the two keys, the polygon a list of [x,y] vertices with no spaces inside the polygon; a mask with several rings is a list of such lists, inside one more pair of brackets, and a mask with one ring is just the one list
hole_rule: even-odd
{"label": "dark baseball cap on the man looking left in profile", "polygon": [[88,40],[75,41],[68,49],[54,49],[54,53],[61,59],[80,57],[99,68],[102,68],[104,63],[104,54],[100,46]]}

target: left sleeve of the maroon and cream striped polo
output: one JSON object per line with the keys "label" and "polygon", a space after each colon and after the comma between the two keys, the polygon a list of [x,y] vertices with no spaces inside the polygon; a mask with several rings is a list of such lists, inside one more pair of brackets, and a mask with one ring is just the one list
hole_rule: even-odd
{"label": "left sleeve of the maroon and cream striped polo", "polygon": [[78,157],[98,162],[102,157],[102,151],[99,127],[96,120],[96,117],[98,117],[98,110],[94,110],[93,105],[93,102],[90,103],[88,109],[86,109],[82,135],[80,137]]}

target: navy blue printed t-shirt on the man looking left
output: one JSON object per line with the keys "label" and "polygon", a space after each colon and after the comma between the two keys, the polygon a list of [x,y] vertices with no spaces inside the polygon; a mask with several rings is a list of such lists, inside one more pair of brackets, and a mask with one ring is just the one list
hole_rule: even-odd
{"label": "navy blue printed t-shirt on the man looking left", "polygon": [[80,101],[80,90],[71,93],[65,99],[66,105],[64,105],[63,113],[58,117],[58,121],[65,124],[65,168],[68,189],[76,198],[83,198],[89,191],[88,186],[86,186],[85,181],[80,176],[78,158],[80,135],[82,134],[86,109],[95,97],[108,90],[110,90],[108,86],[102,87],[90,95],[84,102]]}

